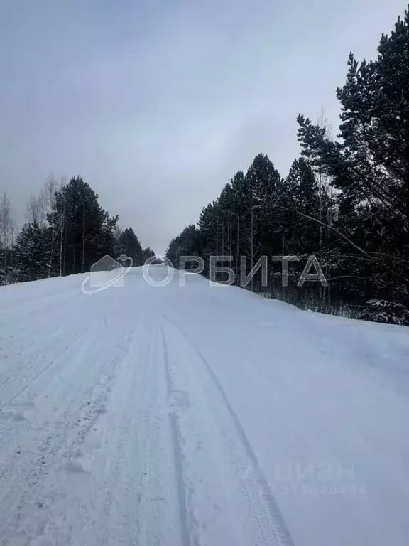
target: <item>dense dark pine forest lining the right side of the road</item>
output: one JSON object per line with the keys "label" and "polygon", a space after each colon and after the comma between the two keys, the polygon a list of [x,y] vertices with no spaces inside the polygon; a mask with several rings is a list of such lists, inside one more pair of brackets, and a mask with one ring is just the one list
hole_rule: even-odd
{"label": "dense dark pine forest lining the right side of the road", "polygon": [[[238,171],[217,199],[170,242],[168,259],[229,256],[236,273],[263,256],[293,256],[288,286],[271,263],[247,286],[303,308],[409,325],[409,12],[383,35],[376,60],[351,53],[339,132],[300,114],[300,157],[285,178],[265,154]],[[298,285],[316,256],[328,286]],[[187,265],[188,267],[188,265]],[[192,267],[196,265],[192,262]],[[222,281],[222,279],[220,279]]]}

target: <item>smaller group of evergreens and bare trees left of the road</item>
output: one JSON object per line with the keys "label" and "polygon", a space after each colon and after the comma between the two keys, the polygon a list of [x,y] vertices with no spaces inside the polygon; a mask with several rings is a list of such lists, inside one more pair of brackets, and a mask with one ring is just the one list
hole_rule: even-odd
{"label": "smaller group of evergreens and bare trees left of the road", "polygon": [[27,203],[27,222],[18,232],[6,194],[0,199],[0,284],[89,271],[104,255],[125,254],[133,265],[154,256],[132,228],[121,230],[98,195],[77,176],[60,182],[49,176]]}

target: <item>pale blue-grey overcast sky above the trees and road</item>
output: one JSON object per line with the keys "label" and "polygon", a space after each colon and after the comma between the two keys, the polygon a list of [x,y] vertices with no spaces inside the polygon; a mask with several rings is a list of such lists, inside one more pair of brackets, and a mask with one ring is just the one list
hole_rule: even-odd
{"label": "pale blue-grey overcast sky above the trees and road", "polygon": [[[338,122],[347,58],[398,0],[0,0],[0,191],[21,225],[80,175],[158,255],[239,169],[285,176],[300,112]],[[336,133],[336,131],[335,131]]]}

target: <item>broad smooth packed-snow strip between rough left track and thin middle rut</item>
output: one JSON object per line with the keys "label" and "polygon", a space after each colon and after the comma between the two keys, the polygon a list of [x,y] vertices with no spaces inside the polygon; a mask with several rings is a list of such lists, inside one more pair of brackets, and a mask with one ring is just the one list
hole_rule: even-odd
{"label": "broad smooth packed-snow strip between rough left track and thin middle rut", "polygon": [[137,334],[77,459],[84,473],[59,488],[49,519],[65,520],[47,531],[50,543],[59,532],[72,546],[182,545],[160,328],[144,321]]}

